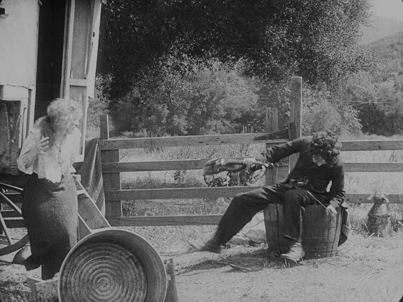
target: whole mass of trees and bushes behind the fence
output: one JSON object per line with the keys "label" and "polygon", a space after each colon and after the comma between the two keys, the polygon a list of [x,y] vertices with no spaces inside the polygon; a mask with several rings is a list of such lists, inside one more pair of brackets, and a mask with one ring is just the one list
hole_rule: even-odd
{"label": "whole mass of trees and bushes behind the fence", "polygon": [[[109,79],[103,92],[115,129],[146,136],[233,133],[245,125],[261,131],[264,107],[278,108],[282,128],[289,78],[298,75],[305,89],[304,133],[357,133],[359,119],[367,131],[373,109],[359,104],[396,99],[401,76],[394,71],[379,79],[374,70],[382,69],[381,61],[357,44],[370,5],[109,0],[102,11],[98,72]],[[399,46],[393,47],[398,53]]]}

